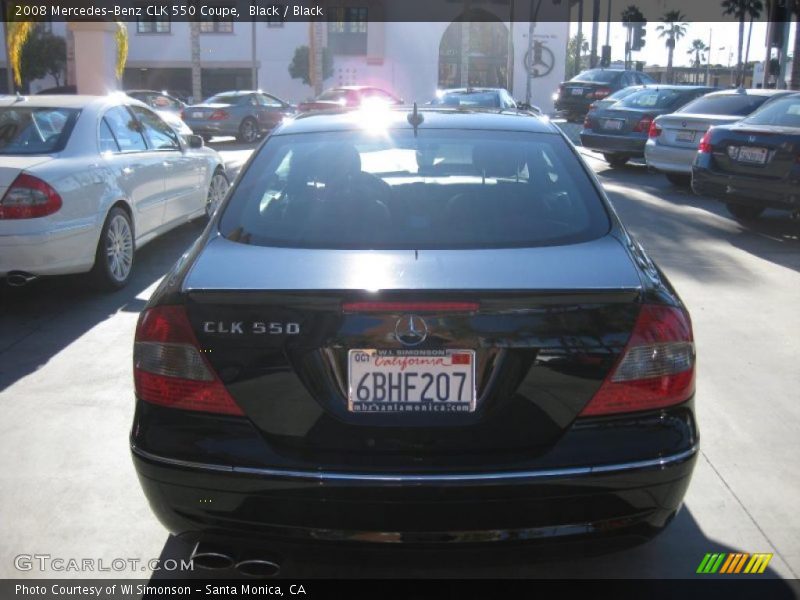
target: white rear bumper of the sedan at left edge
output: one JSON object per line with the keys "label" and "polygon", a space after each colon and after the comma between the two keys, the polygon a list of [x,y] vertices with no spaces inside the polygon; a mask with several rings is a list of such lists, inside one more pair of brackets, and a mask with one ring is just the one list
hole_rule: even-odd
{"label": "white rear bumper of the sedan at left edge", "polygon": [[67,275],[90,270],[100,232],[93,223],[0,235],[0,277],[12,271]]}

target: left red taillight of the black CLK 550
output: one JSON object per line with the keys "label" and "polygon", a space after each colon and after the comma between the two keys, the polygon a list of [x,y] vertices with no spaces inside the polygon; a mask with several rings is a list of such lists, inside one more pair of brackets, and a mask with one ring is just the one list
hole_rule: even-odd
{"label": "left red taillight of the black CLK 550", "polygon": [[133,379],[136,395],[151,404],[244,414],[202,355],[182,306],[157,306],[139,317]]}

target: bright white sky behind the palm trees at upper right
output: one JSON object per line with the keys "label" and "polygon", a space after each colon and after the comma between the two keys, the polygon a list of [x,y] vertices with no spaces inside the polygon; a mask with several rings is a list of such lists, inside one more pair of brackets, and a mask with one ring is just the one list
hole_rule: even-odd
{"label": "bright white sky behind the palm trees at upper right", "polygon": [[[603,10],[603,13],[605,10]],[[601,16],[602,14],[601,13]],[[585,14],[585,13],[584,13]],[[647,65],[661,65],[667,64],[667,48],[664,45],[664,38],[659,38],[659,32],[656,31],[658,22],[647,24],[647,43],[645,47],[639,52],[633,53],[633,60],[643,60]],[[745,23],[745,46],[742,49],[742,56],[744,60],[744,52],[747,47],[747,33],[749,23]],[[792,50],[794,40],[795,25],[792,24],[792,34],[789,38],[789,52]],[[728,21],[719,23],[698,22],[689,23],[686,29],[686,35],[678,40],[675,45],[675,54],[673,62],[675,66],[690,66],[690,57],[687,52],[695,39],[701,39],[706,45],[709,41],[709,31],[711,31],[711,64],[721,64],[727,66],[729,59],[730,64],[735,65],[738,52],[739,40],[739,22]],[[570,24],[570,37],[578,32],[578,24],[573,22]],[[600,55],[600,47],[606,43],[606,23],[601,22],[598,28],[598,44],[597,54]],[[583,24],[583,35],[591,43],[592,23],[585,22]],[[767,24],[765,22],[753,23],[753,33],[750,42],[750,60],[764,60],[766,54],[765,39],[767,35]],[[621,22],[611,23],[611,60],[624,60],[625,58],[625,39],[627,31]]]}

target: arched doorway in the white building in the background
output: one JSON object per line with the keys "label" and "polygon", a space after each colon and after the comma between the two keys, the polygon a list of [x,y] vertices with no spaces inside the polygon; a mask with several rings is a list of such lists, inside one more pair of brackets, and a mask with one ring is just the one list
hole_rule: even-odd
{"label": "arched doorway in the white building in the background", "polygon": [[508,27],[473,10],[450,23],[439,42],[439,89],[508,87]]}

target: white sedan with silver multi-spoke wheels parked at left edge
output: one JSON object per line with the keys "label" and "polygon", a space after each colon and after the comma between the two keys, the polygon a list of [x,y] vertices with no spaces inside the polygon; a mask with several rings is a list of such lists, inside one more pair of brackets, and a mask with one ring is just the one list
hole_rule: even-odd
{"label": "white sedan with silver multi-spoke wheels parked at left edge", "polygon": [[228,187],[217,152],[122,94],[0,98],[0,278],[121,288],[135,249],[211,216]]}

